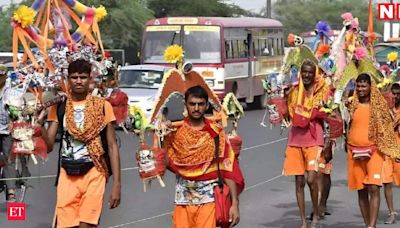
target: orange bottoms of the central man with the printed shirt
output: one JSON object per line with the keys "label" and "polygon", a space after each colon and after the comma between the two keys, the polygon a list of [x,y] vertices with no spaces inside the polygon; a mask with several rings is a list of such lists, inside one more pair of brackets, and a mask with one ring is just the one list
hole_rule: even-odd
{"label": "orange bottoms of the central man with the printed shirt", "polygon": [[215,203],[176,205],[172,222],[174,228],[215,228]]}

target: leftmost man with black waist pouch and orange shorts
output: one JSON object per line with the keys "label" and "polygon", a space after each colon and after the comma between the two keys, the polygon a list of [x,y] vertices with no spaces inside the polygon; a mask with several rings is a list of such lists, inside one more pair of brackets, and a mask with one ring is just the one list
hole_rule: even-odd
{"label": "leftmost man with black waist pouch and orange shorts", "polygon": [[[47,137],[46,134],[44,137],[49,151],[53,148],[57,129],[61,127],[63,131],[55,213],[57,227],[97,227],[110,173],[113,174],[113,185],[109,207],[116,208],[120,204],[115,117],[110,103],[89,94],[91,70],[92,65],[86,60],[71,62],[67,100],[49,110],[50,124]],[[58,109],[63,109],[65,114]],[[40,117],[43,118],[43,113]]]}

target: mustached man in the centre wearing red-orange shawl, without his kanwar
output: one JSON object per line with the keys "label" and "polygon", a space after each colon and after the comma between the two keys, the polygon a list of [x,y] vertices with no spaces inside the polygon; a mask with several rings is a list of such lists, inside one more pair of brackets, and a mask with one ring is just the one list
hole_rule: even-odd
{"label": "mustached man in the centre wearing red-orange shawl, without his kanwar", "polygon": [[[188,117],[183,125],[166,138],[169,167],[176,174],[174,228],[215,228],[218,166],[223,182],[229,187],[232,206],[230,225],[239,223],[239,193],[244,179],[227,142],[224,130],[204,117],[209,107],[208,94],[201,86],[185,94]],[[167,123],[171,127],[171,123]],[[218,139],[218,140],[216,140]],[[216,159],[216,147],[219,156]]]}

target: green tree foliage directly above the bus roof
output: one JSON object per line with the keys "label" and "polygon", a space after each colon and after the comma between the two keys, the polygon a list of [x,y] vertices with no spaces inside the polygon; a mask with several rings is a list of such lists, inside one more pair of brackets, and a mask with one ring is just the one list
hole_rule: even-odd
{"label": "green tree foliage directly above the bus roof", "polygon": [[250,12],[223,0],[148,0],[148,7],[155,17],[171,16],[219,16],[234,17]]}

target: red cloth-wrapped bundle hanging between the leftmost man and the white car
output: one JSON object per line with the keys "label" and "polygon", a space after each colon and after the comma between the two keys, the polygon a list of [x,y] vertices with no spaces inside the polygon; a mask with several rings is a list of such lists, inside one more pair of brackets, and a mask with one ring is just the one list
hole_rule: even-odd
{"label": "red cloth-wrapped bundle hanging between the leftmost man and the white car", "polygon": [[128,95],[120,89],[114,89],[108,98],[113,107],[117,124],[125,122],[128,117]]}

